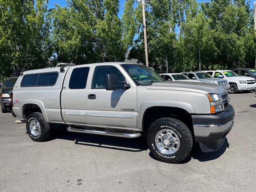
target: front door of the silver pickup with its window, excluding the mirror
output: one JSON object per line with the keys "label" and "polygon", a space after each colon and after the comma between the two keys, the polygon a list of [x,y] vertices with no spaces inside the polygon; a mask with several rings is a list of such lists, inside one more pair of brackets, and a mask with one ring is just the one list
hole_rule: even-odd
{"label": "front door of the silver pickup with its window, excluding the mirror", "polygon": [[[106,74],[116,74],[118,81],[126,80],[131,87],[127,90],[106,90]],[[94,126],[136,129],[137,86],[124,69],[121,66],[96,66],[90,82],[87,98],[89,123]]]}

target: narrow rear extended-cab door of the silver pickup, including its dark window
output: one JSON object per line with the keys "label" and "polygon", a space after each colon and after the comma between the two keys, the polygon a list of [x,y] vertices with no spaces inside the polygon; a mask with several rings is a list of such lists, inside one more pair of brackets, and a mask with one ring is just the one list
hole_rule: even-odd
{"label": "narrow rear extended-cab door of the silver pickup, including its dark window", "polygon": [[64,79],[61,107],[66,123],[88,124],[87,92],[89,67],[70,67]]}

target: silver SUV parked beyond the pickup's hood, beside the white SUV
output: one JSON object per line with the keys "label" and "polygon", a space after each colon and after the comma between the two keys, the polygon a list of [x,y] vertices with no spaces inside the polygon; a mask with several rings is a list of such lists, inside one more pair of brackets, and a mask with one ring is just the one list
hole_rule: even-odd
{"label": "silver SUV parked beyond the pickup's hood, beside the white SUV", "polygon": [[227,80],[220,80],[218,78],[213,78],[210,74],[202,71],[197,72],[182,72],[182,74],[188,76],[192,80],[200,80],[203,83],[213,83],[223,85],[226,90],[229,90],[230,85]]}

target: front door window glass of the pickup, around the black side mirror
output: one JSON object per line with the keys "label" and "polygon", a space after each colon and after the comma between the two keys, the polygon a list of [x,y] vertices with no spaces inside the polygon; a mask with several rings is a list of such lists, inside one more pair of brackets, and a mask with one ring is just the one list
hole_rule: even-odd
{"label": "front door window glass of the pickup, around the black side mirror", "polygon": [[123,74],[114,66],[97,66],[92,78],[92,89],[106,88],[106,74],[116,74],[118,81],[125,81]]}

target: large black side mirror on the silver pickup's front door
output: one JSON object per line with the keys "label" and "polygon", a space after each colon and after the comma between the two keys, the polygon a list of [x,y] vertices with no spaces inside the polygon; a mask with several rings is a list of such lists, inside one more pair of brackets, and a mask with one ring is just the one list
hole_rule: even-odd
{"label": "large black side mirror on the silver pickup's front door", "polygon": [[106,74],[106,90],[128,89],[130,84],[118,81],[116,74]]}

